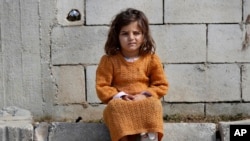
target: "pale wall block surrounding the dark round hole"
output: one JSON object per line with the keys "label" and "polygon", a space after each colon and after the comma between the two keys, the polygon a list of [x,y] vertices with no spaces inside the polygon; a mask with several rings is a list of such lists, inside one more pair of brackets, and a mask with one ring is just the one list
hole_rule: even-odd
{"label": "pale wall block surrounding the dark round hole", "polygon": [[[69,12],[76,9],[80,13],[80,20],[69,21]],[[63,26],[83,25],[84,23],[84,0],[58,0],[57,1],[57,20]]]}

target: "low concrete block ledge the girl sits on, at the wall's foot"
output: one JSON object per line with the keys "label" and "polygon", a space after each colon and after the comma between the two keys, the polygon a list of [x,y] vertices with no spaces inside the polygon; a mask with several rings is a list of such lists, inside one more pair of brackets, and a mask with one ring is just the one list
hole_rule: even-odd
{"label": "low concrete block ledge the girl sits on, at the wall's foot", "polygon": [[[229,141],[229,125],[247,124],[250,120],[220,122],[216,137],[215,123],[165,123],[163,141]],[[0,121],[0,141],[111,141],[103,123],[36,123]]]}

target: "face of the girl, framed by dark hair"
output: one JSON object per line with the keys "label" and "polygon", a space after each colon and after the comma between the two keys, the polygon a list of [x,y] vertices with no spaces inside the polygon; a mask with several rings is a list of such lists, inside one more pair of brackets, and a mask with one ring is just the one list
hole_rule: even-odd
{"label": "face of the girl, framed by dark hair", "polygon": [[125,57],[136,57],[143,43],[144,36],[137,21],[123,26],[119,34],[122,54]]}

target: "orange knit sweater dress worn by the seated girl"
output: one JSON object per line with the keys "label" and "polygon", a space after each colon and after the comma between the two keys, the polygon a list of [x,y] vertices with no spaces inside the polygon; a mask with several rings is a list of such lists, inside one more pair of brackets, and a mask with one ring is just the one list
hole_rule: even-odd
{"label": "orange knit sweater dress worn by the seated girl", "polygon": [[[144,132],[158,132],[161,140],[160,98],[167,90],[168,82],[156,54],[140,56],[134,62],[127,62],[120,53],[104,55],[96,71],[96,91],[99,99],[107,104],[103,118],[112,141]],[[140,101],[113,99],[121,91],[132,95],[147,91],[152,96]]]}

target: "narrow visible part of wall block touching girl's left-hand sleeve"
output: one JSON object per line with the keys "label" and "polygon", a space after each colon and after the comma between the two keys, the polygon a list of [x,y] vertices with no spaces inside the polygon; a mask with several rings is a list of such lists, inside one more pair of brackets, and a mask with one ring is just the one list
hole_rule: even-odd
{"label": "narrow visible part of wall block touching girl's left-hand sleeve", "polygon": [[87,68],[86,68],[87,102],[88,103],[101,103],[101,101],[97,97],[97,93],[96,93],[96,89],[95,89],[96,69],[97,69],[97,65],[87,66]]}

